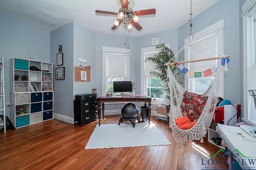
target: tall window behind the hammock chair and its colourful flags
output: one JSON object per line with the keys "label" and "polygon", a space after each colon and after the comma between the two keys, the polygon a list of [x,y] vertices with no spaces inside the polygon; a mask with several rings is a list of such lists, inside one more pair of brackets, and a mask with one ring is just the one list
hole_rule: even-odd
{"label": "tall window behind the hammock chair and its colourful flags", "polygon": [[[199,31],[194,34],[193,40],[213,51],[223,54],[224,48],[224,39],[223,39],[223,28],[224,28],[224,20],[221,20],[213,25]],[[185,44],[188,43],[190,37],[185,39]],[[196,59],[204,59],[208,57],[218,57],[218,55],[209,49],[206,49],[194,42],[188,44],[188,47],[185,48],[185,61],[188,60],[196,60]],[[215,64],[217,64],[218,60],[209,60],[209,61],[201,61],[195,63],[186,63],[185,67],[192,72],[202,72],[208,70]],[[203,75],[203,74],[202,74]],[[223,98],[224,96],[224,86],[223,86],[223,75],[221,77],[221,84],[219,85],[219,96]],[[186,76],[185,80],[185,88],[189,89],[190,92],[194,92],[197,94],[203,94],[209,88],[212,80],[214,78],[214,74],[207,77],[198,76],[195,78],[194,75]]]}

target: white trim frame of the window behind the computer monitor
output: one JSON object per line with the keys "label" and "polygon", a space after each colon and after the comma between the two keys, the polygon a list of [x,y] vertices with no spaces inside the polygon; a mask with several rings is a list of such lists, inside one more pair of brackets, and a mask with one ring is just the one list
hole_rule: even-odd
{"label": "white trim frame of the window behind the computer monitor", "polygon": [[104,47],[102,46],[102,95],[106,94],[107,90],[107,54],[125,55],[125,78],[124,81],[130,80],[130,49],[116,48],[116,47]]}

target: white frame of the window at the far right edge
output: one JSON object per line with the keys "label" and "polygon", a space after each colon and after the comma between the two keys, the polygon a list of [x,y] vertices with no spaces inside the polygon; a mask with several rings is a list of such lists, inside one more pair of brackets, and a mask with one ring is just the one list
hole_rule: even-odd
{"label": "white frame of the window at the far right edge", "polygon": [[[252,89],[252,69],[256,63],[248,65],[248,60],[252,60],[253,48],[252,48],[252,23],[251,16],[256,12],[256,2],[248,1],[244,2],[242,6],[242,20],[243,20],[243,117],[242,120],[250,125],[256,126],[255,122],[249,120],[250,118],[250,104],[253,100],[252,96],[249,95],[248,90]],[[255,40],[254,40],[255,41]],[[255,44],[254,44],[255,45]],[[255,49],[254,49],[255,50]],[[255,53],[255,52],[254,52]]]}

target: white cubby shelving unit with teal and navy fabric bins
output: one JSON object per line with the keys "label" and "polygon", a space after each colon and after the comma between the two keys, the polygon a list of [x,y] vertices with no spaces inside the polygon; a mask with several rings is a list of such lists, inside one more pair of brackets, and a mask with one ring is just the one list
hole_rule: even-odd
{"label": "white cubby shelving unit with teal and navy fabric bins", "polygon": [[52,77],[52,63],[10,59],[11,120],[16,128],[53,119]]}

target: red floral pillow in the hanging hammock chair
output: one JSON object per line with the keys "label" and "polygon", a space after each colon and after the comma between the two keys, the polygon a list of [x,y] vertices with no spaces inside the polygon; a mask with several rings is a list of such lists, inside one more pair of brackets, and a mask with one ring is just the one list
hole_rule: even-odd
{"label": "red floral pillow in the hanging hammock chair", "polygon": [[197,121],[202,114],[207,99],[208,96],[184,92],[182,104],[180,106],[182,114],[187,116],[192,122]]}

